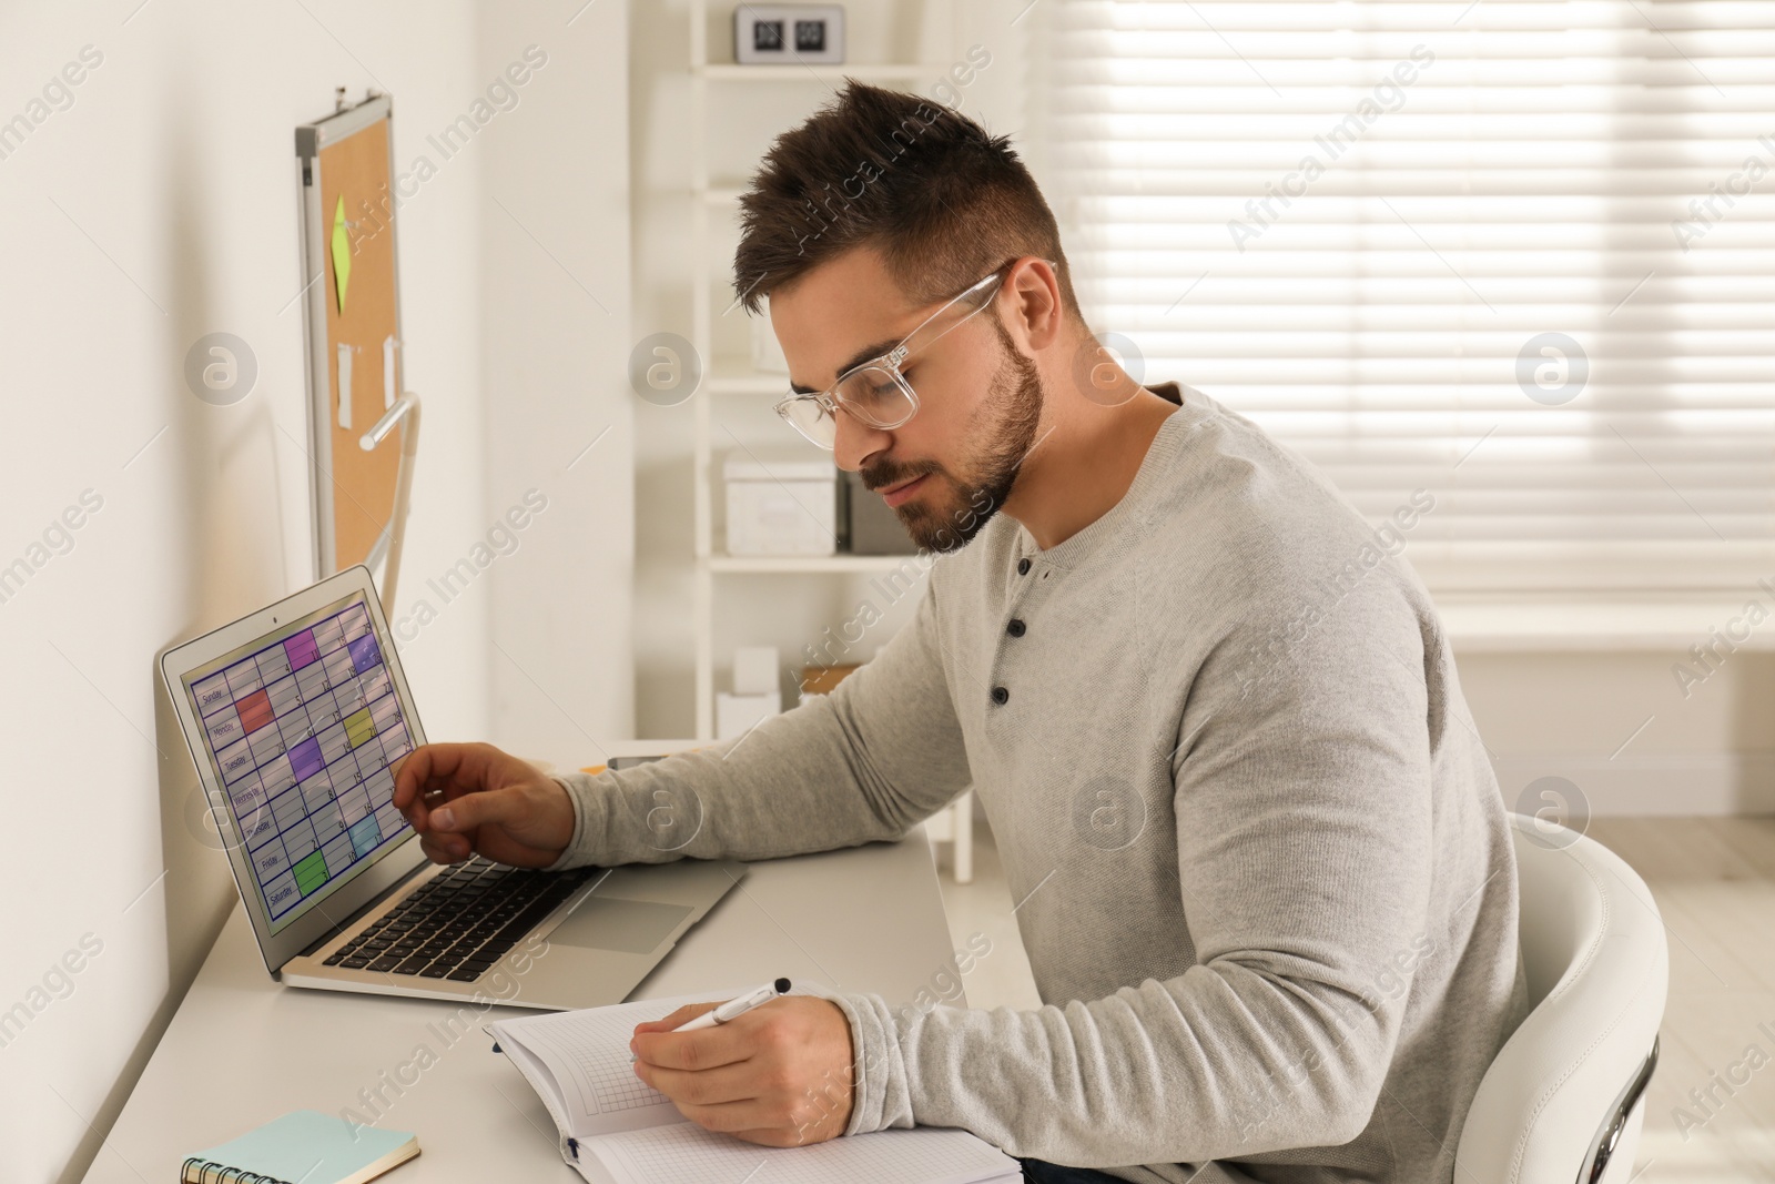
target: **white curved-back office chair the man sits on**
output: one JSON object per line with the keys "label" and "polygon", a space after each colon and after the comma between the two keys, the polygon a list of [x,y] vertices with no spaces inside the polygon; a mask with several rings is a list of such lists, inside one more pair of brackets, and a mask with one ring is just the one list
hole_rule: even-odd
{"label": "white curved-back office chair the man sits on", "polygon": [[1622,1184],[1670,978],[1645,882],[1576,831],[1512,815],[1530,1012],[1479,1083],[1456,1180]]}

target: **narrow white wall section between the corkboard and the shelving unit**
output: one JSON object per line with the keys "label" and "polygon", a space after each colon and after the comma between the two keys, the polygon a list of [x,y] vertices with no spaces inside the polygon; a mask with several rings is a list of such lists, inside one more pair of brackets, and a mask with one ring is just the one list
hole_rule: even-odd
{"label": "narrow white wall section between the corkboard and the shelving unit", "polygon": [[611,0],[483,4],[481,76],[532,44],[548,64],[483,133],[488,513],[460,545],[547,499],[490,568],[490,738],[563,767],[635,735],[627,20]]}

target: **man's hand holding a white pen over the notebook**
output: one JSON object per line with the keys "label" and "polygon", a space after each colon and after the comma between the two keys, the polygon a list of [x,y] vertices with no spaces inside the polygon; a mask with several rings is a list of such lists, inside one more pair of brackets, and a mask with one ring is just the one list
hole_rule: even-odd
{"label": "man's hand holding a white pen over the notebook", "polygon": [[850,1022],[836,1003],[783,996],[724,1024],[671,1031],[714,1003],[635,1026],[635,1076],[690,1122],[747,1143],[801,1147],[850,1125]]}

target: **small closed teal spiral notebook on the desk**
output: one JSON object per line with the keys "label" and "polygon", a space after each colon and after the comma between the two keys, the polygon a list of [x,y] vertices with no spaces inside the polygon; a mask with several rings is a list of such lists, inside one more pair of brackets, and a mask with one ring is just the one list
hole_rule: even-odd
{"label": "small closed teal spiral notebook on the desk", "polygon": [[186,1156],[181,1184],[362,1184],[419,1154],[419,1136],[293,1109],[209,1150]]}

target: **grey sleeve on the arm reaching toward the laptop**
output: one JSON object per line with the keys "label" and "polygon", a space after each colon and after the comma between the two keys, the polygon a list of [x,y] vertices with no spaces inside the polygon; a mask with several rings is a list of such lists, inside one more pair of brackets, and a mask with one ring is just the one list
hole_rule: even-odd
{"label": "grey sleeve on the arm reaching toward the laptop", "polygon": [[827,696],[721,744],[557,777],[573,836],[550,864],[770,859],[893,840],[967,788],[927,582],[912,621]]}

